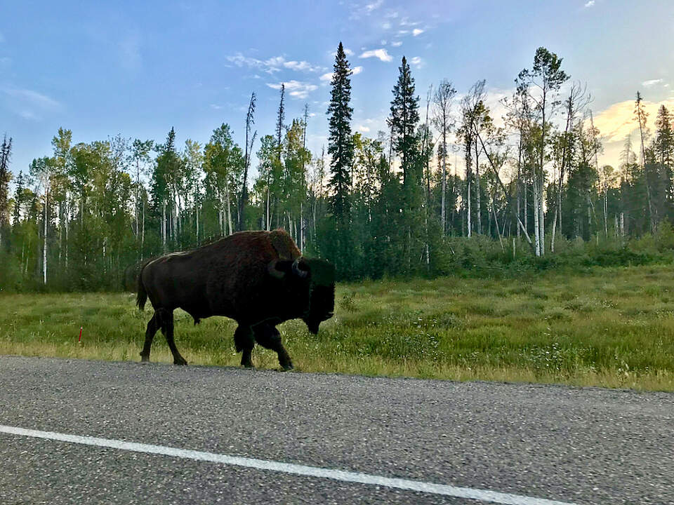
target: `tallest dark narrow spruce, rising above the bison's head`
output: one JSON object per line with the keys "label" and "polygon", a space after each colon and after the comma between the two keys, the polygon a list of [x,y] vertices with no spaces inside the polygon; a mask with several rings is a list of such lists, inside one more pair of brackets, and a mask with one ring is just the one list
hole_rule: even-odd
{"label": "tallest dark narrow spruce, rising above the bison's head", "polygon": [[329,187],[333,215],[338,227],[348,222],[350,170],[353,161],[353,138],[351,135],[351,69],[342,43],[339,43],[332,75],[332,92],[327,114],[329,119],[328,152],[331,154],[332,176]]}

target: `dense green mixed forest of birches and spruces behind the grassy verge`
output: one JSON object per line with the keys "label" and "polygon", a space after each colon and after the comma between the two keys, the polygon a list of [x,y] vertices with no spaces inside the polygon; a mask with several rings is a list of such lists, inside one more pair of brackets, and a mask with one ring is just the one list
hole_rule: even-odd
{"label": "dense green mixed forest of birches and spruces behind the grassy verge", "polygon": [[20,171],[11,194],[12,140],[4,137],[0,288],[114,289],[128,264],[277,227],[305,254],[334,262],[341,279],[574,258],[639,263],[674,247],[671,116],[661,107],[651,134],[639,93],[640,141],[626,138],[614,168],[598,166],[589,94],[569,86],[562,59],[546,48],[517,74],[502,121],[487,106],[484,81],[459,98],[442,80],[422,102],[402,58],[388,131],[376,138],[352,133],[350,74],[340,43],[320,153],[306,147],[308,107],[286,123],[284,86],[275,131],[259,139],[251,95],[243,147],[225,123],[206,144],[182,148],[173,128],[164,142],[117,135],[79,144],[60,128],[51,155]]}

